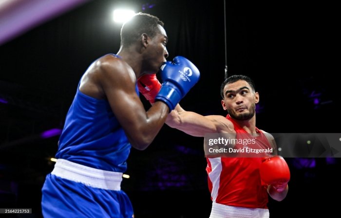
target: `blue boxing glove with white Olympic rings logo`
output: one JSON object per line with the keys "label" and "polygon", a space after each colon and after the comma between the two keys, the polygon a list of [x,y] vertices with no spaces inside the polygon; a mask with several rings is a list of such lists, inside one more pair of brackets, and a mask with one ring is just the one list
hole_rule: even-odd
{"label": "blue boxing glove with white Olympic rings logo", "polygon": [[161,67],[163,81],[160,92],[155,100],[165,102],[170,111],[189,92],[200,78],[198,68],[188,59],[177,56],[173,62],[167,61]]}

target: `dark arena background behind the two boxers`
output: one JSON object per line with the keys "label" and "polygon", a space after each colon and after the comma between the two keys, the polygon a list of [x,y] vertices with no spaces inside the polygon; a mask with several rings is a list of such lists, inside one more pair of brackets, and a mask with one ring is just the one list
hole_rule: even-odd
{"label": "dark arena background behind the two boxers", "polygon": [[[170,57],[190,59],[199,82],[182,99],[185,110],[226,115],[220,84],[228,75],[254,79],[260,94],[257,127],[270,133],[340,133],[335,5],[328,2],[130,0],[165,22]],[[0,45],[0,208],[32,208],[41,217],[41,187],[53,169],[58,136],[81,75],[92,61],[119,49],[117,0],[93,0]],[[142,10],[143,6],[147,9]],[[5,31],[5,30],[0,30]],[[337,50],[335,52],[338,52]],[[149,107],[143,97],[146,109]],[[336,127],[335,127],[336,126]],[[290,191],[270,199],[272,218],[335,212],[339,159],[286,159]],[[203,138],[164,126],[145,151],[132,149],[122,189],[136,218],[205,218],[211,201]],[[336,187],[336,188],[335,188]],[[295,212],[293,212],[295,211]],[[1,215],[0,215],[1,217]]]}

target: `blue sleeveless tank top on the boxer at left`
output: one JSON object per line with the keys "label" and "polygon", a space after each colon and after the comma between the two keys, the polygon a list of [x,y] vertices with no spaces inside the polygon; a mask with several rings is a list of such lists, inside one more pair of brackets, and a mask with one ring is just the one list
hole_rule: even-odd
{"label": "blue sleeveless tank top on the boxer at left", "polygon": [[[56,154],[85,166],[125,172],[131,144],[106,99],[79,91],[67,113]],[[139,95],[136,85],[136,93]]]}

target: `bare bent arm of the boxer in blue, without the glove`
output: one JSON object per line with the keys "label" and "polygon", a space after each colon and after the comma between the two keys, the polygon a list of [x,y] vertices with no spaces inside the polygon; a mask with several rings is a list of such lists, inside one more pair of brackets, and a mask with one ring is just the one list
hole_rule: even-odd
{"label": "bare bent arm of the boxer in blue, without the glove", "polygon": [[135,90],[133,69],[124,61],[101,63],[100,74],[100,86],[130,143],[146,149],[167,118],[167,104],[157,102],[146,112]]}

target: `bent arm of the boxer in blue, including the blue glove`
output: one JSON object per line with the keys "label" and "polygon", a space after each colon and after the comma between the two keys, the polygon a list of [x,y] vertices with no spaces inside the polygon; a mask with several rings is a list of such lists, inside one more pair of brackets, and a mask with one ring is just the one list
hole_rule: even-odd
{"label": "bent arm of the boxer in blue, including the blue glove", "polygon": [[[143,150],[160,131],[170,110],[182,99],[199,80],[199,70],[186,58],[175,57],[168,61],[161,70],[164,80],[157,102],[146,112],[135,90],[136,78],[133,69],[121,59],[99,63],[97,73],[99,87],[122,125],[132,146]],[[186,74],[190,79],[183,80]]]}

